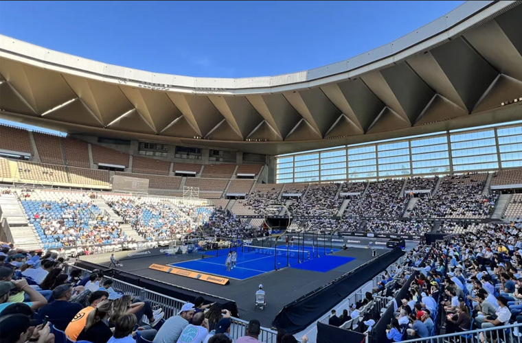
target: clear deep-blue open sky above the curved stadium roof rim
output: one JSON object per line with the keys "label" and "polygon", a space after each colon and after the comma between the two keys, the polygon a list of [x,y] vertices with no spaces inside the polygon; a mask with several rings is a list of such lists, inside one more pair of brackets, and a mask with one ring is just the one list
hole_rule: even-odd
{"label": "clear deep-blue open sky above the curved stadium roof rim", "polygon": [[464,1],[1,1],[0,33],[124,67],[277,75],[345,60]]}

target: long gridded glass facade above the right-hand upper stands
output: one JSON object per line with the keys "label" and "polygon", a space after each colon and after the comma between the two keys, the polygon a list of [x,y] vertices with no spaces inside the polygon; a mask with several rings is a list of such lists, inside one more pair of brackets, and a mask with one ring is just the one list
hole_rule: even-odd
{"label": "long gridded glass facade above the right-hand upper stands", "polygon": [[343,145],[276,159],[277,183],[379,180],[522,167],[522,125]]}

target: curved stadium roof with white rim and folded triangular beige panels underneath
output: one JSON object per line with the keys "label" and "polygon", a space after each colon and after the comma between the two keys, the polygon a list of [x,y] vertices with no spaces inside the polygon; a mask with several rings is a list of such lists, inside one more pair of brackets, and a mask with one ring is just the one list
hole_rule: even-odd
{"label": "curved stadium roof with white rim and folded triangular beige panels underneath", "polygon": [[[0,36],[2,117],[260,154],[522,119],[522,1],[468,1],[393,42],[261,78],[150,73]],[[196,137],[196,138],[195,138]]]}

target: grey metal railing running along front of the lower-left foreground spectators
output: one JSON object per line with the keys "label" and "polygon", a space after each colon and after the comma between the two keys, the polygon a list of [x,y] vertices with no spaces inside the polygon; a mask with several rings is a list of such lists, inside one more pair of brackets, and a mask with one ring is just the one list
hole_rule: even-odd
{"label": "grey metal railing running along front of the lower-left foreground spectators", "polygon": [[[76,265],[65,265],[64,267],[64,271],[67,274],[69,274],[74,269],[82,270],[82,277],[90,274],[89,270],[77,267]],[[113,281],[113,288],[119,289],[124,294],[133,294],[141,300],[148,300],[152,306],[161,306],[163,313],[165,314],[165,318],[176,316],[179,311],[181,311],[181,307],[183,307],[185,303],[188,303],[187,301],[172,298],[171,296],[152,292],[151,290],[144,287],[137,287],[136,285],[114,279],[113,277],[110,279]],[[248,322],[246,320],[241,320],[235,317],[231,317],[230,319],[232,322],[230,327],[231,337],[236,340],[244,336],[247,330]],[[261,327],[261,333],[258,340],[263,343],[275,343],[276,337],[277,331],[273,331],[272,329],[268,329],[266,327]]]}

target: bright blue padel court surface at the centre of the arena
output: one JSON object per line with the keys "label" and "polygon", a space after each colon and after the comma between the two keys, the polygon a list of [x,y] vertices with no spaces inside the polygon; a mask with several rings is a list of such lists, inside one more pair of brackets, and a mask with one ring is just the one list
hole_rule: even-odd
{"label": "bright blue padel court surface at the centre of the arena", "polygon": [[[337,251],[334,249],[333,251]],[[210,250],[205,252],[203,259],[195,259],[170,265],[177,268],[204,272],[224,276],[229,279],[245,280],[253,276],[258,276],[266,272],[271,272],[276,268],[284,268],[289,265],[291,268],[311,270],[315,272],[328,272],[350,261],[353,257],[341,257],[325,255],[324,248],[304,247],[304,250],[286,246],[277,246],[277,254],[273,248],[237,248],[238,259],[236,268],[227,271],[225,261],[228,250]],[[326,253],[330,248],[326,247]],[[216,256],[216,253],[218,256]],[[277,257],[275,257],[277,255]],[[299,263],[300,262],[300,263]]]}

